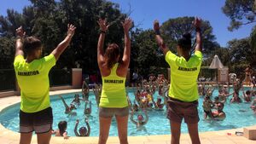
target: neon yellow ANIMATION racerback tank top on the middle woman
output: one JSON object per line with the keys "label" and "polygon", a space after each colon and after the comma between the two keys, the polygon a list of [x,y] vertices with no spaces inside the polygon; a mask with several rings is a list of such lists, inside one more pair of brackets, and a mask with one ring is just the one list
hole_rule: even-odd
{"label": "neon yellow ANIMATION racerback tank top on the middle woman", "polygon": [[125,92],[125,79],[116,74],[118,63],[113,66],[108,77],[102,77],[100,107],[128,107]]}

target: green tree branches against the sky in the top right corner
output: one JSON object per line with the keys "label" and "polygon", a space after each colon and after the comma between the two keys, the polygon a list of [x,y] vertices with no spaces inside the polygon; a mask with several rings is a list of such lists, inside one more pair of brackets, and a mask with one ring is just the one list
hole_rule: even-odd
{"label": "green tree branches against the sky in the top right corner", "polygon": [[222,11],[231,20],[230,31],[256,22],[256,3],[253,0],[226,0]]}

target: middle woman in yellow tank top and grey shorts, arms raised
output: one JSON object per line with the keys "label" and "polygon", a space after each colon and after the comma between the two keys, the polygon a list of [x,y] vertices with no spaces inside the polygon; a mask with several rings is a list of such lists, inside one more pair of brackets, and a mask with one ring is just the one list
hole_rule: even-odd
{"label": "middle woman in yellow tank top and grey shorts, arms raised", "polygon": [[129,30],[132,26],[130,18],[122,22],[125,33],[124,55],[119,60],[120,49],[116,43],[108,44],[104,52],[103,45],[108,25],[106,20],[100,19],[98,24],[101,34],[97,46],[97,62],[102,74],[102,95],[99,105],[100,136],[99,144],[105,144],[112,117],[115,116],[119,131],[120,144],[127,144],[127,125],[129,107],[125,92],[125,78],[130,64],[131,40]]}

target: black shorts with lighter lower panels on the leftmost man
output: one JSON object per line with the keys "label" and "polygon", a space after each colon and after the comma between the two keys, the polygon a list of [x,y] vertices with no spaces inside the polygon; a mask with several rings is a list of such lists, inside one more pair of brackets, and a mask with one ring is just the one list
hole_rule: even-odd
{"label": "black shorts with lighter lower panels on the leftmost man", "polygon": [[52,130],[53,115],[51,107],[39,112],[22,112],[20,110],[20,133],[47,133]]}

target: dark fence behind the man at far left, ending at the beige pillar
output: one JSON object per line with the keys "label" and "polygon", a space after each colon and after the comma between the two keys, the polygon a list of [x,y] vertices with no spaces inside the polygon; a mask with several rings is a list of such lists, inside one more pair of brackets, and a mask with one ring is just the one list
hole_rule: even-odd
{"label": "dark fence behind the man at far left, ending at the beige pillar", "polygon": [[[52,69],[49,72],[49,86],[72,85],[71,69]],[[16,90],[14,69],[0,70],[0,91]]]}

